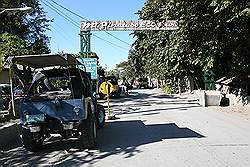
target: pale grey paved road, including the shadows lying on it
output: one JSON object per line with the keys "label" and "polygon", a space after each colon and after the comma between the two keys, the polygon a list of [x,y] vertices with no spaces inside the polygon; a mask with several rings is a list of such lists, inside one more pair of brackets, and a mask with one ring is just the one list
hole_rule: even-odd
{"label": "pale grey paved road, including the shadows lying on it", "polygon": [[99,145],[81,150],[53,138],[38,153],[22,147],[0,153],[0,166],[200,167],[250,164],[250,120],[202,108],[156,90],[134,90],[114,100],[119,119],[99,131]]}

